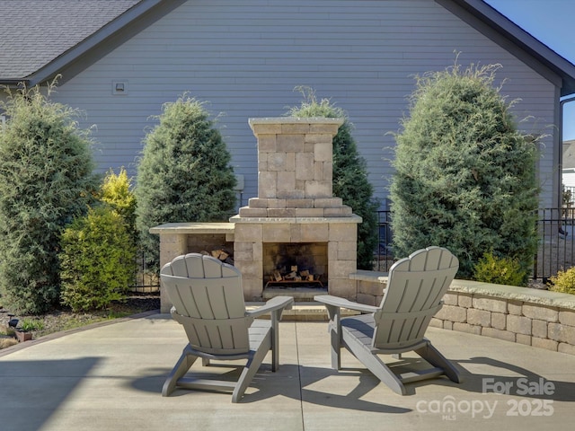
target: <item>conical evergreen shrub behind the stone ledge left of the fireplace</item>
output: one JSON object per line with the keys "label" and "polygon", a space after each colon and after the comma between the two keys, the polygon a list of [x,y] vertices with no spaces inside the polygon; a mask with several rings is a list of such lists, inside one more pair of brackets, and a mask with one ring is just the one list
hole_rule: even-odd
{"label": "conical evergreen shrub behind the stone ledge left of the fireplace", "polygon": [[137,226],[149,268],[159,267],[158,224],[226,221],[235,209],[231,154],[204,104],[165,103],[137,170]]}

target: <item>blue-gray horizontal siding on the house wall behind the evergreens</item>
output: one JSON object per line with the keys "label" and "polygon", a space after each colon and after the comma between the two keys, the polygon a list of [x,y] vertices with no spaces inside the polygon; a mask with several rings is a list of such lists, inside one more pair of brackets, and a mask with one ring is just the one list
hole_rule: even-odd
{"label": "blue-gray horizontal siding on the house wall behind the evergreens", "polygon": [[[393,169],[385,160],[407,115],[413,75],[459,62],[503,67],[503,93],[521,98],[517,117],[553,123],[553,84],[432,0],[189,1],[66,81],[57,100],[86,112],[102,171],[128,167],[142,148],[151,115],[182,92],[214,115],[243,174],[244,199],[257,193],[256,144],[247,120],[274,117],[299,104],[296,85],[309,85],[349,114],[367,159],[376,196],[385,199]],[[112,80],[128,80],[128,95],[111,94]],[[540,170],[553,186],[552,139]]]}

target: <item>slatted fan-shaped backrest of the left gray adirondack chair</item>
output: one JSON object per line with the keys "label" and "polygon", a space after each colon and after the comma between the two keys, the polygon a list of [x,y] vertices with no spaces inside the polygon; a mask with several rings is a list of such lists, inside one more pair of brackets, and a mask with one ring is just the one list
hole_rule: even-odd
{"label": "slatted fan-shaped backrest of the left gray adirondack chair", "polygon": [[162,268],[162,283],[190,345],[217,355],[250,349],[242,277],[237,268],[209,256],[190,253]]}

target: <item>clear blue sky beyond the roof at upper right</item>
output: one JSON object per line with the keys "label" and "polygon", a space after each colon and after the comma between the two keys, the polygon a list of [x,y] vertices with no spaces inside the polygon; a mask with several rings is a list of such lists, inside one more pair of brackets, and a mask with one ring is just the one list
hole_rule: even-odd
{"label": "clear blue sky beyond the roof at upper right", "polygon": [[[523,30],[575,64],[575,0],[484,0]],[[564,104],[563,140],[575,139],[575,101]]]}

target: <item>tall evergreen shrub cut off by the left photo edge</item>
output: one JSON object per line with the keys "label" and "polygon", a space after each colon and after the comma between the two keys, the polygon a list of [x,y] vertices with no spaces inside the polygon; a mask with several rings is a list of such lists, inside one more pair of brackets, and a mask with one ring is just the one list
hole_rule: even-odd
{"label": "tall evergreen shrub cut off by the left photo edge", "polygon": [[0,131],[0,292],[14,312],[59,302],[59,243],[66,224],[93,200],[91,142],[76,111],[48,89],[6,89]]}

